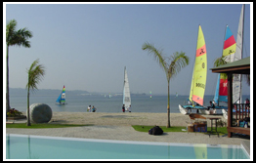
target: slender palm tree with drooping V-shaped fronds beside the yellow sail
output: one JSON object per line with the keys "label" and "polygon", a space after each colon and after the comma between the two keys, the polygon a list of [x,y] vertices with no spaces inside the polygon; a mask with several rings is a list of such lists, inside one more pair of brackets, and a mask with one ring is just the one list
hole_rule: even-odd
{"label": "slender palm tree with drooping V-shaped fronds beside the yellow sail", "polygon": [[167,103],[167,128],[170,128],[170,79],[173,78],[182,67],[189,64],[190,59],[185,53],[176,52],[170,58],[166,58],[162,54],[162,50],[156,49],[152,44],[145,43],[142,47],[143,50],[147,50],[149,55],[153,55],[154,59],[160,64],[165,71],[167,83],[168,83],[168,103]]}

